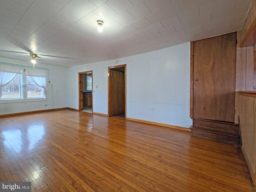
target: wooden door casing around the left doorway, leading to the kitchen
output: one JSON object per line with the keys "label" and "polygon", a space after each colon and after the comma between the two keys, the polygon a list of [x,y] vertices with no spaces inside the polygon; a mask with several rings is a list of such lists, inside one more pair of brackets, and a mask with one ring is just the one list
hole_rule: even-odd
{"label": "wooden door casing around the left doorway, leading to the kitchen", "polygon": [[[91,73],[91,71],[78,73],[78,110],[83,110],[83,74]],[[93,75],[92,75],[92,88],[93,88]],[[92,113],[93,113],[93,91],[92,91]]]}

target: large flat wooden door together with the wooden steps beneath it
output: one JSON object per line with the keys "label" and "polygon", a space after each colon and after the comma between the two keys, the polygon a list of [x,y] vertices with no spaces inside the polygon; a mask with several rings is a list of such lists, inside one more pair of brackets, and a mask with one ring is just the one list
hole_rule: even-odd
{"label": "large flat wooden door together with the wooden steps beneath it", "polygon": [[191,135],[238,144],[236,32],[191,42]]}

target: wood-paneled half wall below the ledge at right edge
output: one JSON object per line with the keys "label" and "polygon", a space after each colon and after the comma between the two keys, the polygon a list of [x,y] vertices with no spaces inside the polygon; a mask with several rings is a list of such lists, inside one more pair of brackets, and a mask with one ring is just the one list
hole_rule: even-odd
{"label": "wood-paneled half wall below the ledge at right edge", "polygon": [[256,186],[256,92],[239,92],[238,100],[242,152]]}

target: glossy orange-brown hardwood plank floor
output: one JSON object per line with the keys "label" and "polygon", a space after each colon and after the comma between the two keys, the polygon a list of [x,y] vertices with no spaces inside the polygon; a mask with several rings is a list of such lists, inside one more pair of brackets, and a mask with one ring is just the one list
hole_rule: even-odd
{"label": "glossy orange-brown hardwood plank floor", "polygon": [[1,117],[0,152],[35,192],[252,192],[239,147],[68,109]]}

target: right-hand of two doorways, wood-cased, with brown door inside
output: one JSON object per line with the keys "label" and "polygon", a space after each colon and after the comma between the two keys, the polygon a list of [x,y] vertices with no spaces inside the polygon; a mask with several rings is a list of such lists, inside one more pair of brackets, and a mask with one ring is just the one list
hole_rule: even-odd
{"label": "right-hand of two doorways, wood-cased, with brown door inside", "polygon": [[126,64],[108,67],[108,116],[126,118]]}

